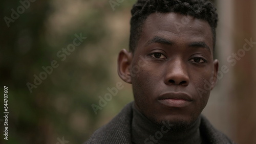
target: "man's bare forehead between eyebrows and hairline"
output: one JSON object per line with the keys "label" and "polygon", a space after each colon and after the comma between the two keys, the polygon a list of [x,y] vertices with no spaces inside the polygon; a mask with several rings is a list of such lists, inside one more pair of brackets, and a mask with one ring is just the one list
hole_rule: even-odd
{"label": "man's bare forehead between eyebrows and hairline", "polygon": [[[179,13],[149,15],[144,22],[139,43],[143,44],[147,39],[155,36],[182,43],[203,41],[213,51],[212,32],[208,22],[191,16]],[[138,45],[138,47],[140,46]]]}

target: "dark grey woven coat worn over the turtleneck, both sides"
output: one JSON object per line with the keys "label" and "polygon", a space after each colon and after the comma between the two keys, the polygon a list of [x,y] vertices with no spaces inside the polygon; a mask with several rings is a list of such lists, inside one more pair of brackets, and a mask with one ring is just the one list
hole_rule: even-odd
{"label": "dark grey woven coat worn over the turtleneck, both sides", "polygon": [[[85,143],[132,143],[131,128],[133,119],[133,103],[134,102],[127,104],[110,123],[96,130],[91,138]],[[201,116],[200,133],[206,143],[209,144],[234,143],[226,135],[216,130],[203,115]]]}

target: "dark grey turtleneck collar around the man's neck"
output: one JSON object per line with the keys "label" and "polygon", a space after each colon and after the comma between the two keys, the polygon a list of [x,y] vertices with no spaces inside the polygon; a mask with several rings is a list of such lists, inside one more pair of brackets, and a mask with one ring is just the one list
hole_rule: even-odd
{"label": "dark grey turtleneck collar around the man's neck", "polygon": [[133,143],[202,143],[200,136],[200,121],[197,121],[186,128],[185,131],[173,131],[172,128],[163,123],[163,126],[156,125],[145,117],[133,104],[132,121],[132,142]]}

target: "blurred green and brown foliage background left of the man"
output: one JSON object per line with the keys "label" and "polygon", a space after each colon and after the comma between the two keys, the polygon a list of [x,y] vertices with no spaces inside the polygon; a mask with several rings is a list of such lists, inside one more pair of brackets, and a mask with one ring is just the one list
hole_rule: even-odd
{"label": "blurred green and brown foliage background left of the man", "polygon": [[[109,1],[27,2],[30,6],[8,28],[4,17],[11,18],[12,9],[17,12],[23,5],[0,1],[1,87],[7,86],[9,95],[8,141],[2,123],[0,143],[57,143],[62,137],[82,143],[133,99],[131,86],[122,82],[124,88],[98,114],[91,107],[106,88],[121,82],[116,60],[128,47],[135,1],[123,1],[114,10]],[[61,61],[57,53],[73,43],[75,34],[87,39]],[[42,66],[53,60],[59,66],[30,93],[27,83],[34,84],[34,75],[39,77],[45,71]],[[0,102],[2,115],[2,98]]]}

